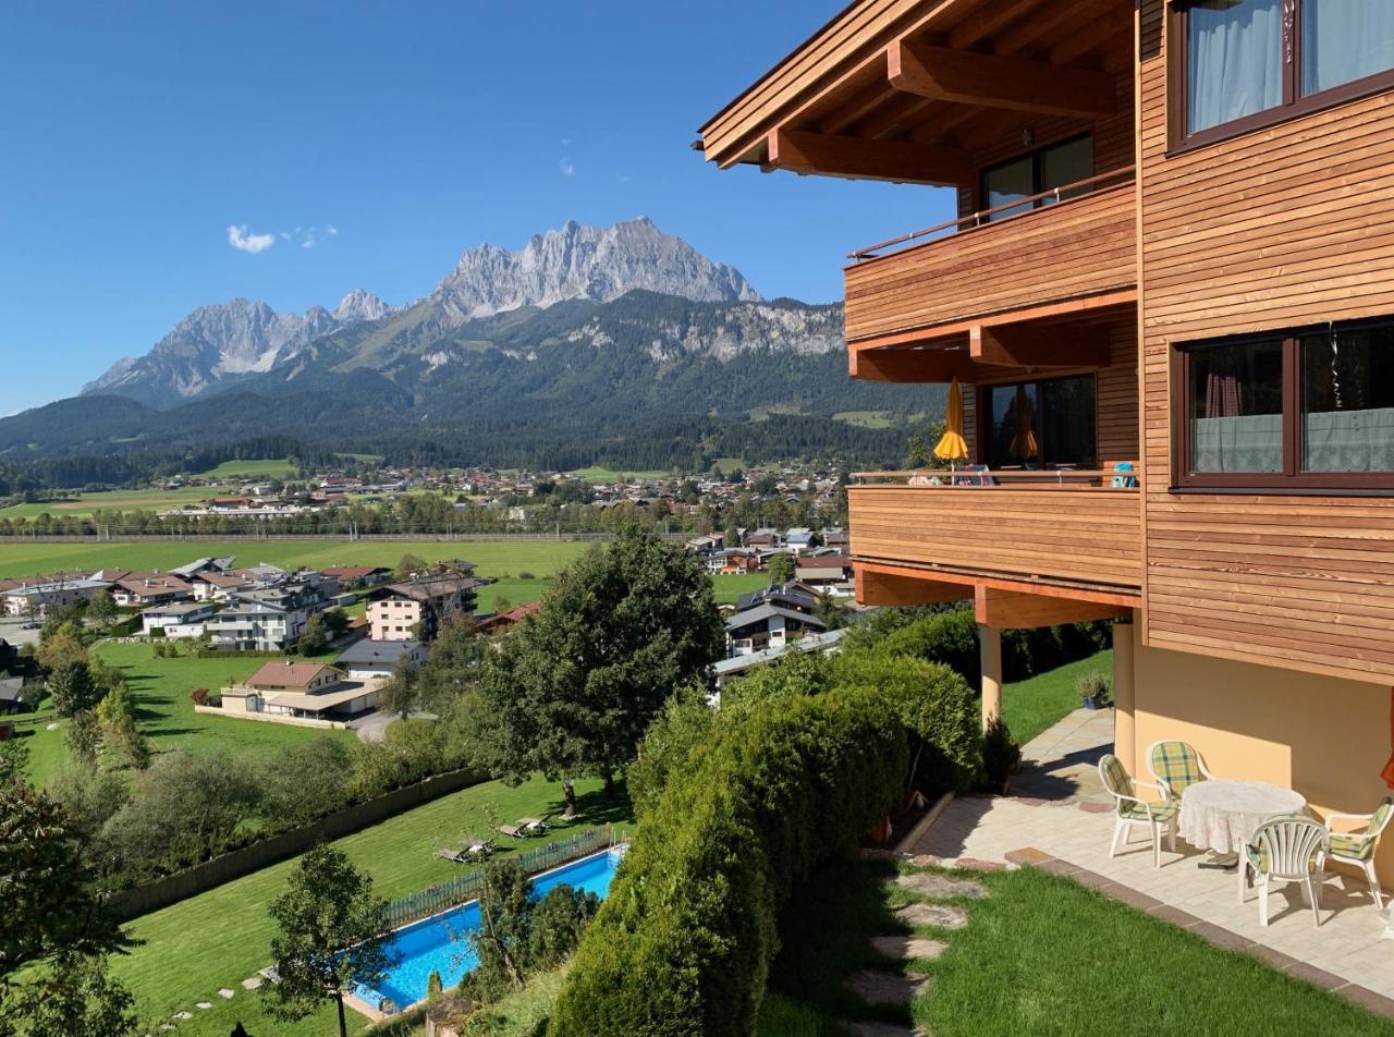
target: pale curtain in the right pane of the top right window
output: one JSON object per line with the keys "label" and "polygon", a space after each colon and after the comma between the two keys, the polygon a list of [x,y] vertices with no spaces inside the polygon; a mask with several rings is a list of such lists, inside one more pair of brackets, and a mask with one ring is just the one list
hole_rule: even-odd
{"label": "pale curtain in the right pane of the top right window", "polygon": [[1394,0],[1302,0],[1302,93],[1394,68]]}

